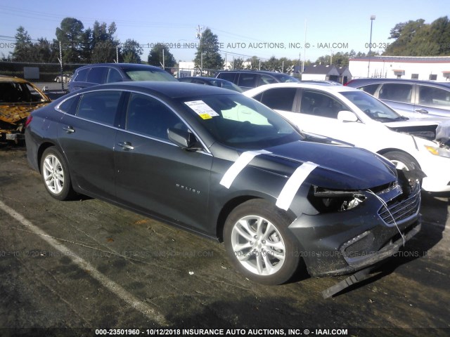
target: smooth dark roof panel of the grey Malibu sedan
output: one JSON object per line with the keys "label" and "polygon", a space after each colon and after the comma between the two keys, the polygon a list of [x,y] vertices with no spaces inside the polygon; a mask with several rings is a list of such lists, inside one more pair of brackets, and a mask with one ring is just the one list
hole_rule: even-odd
{"label": "smooth dark roof panel of the grey Malibu sedan", "polygon": [[[84,88],[77,93],[84,93],[86,91],[98,91],[106,89],[120,89],[125,91],[140,91],[142,93],[152,93],[163,95],[167,98],[184,98],[198,95],[217,95],[217,94],[231,94],[230,91],[216,86],[199,86],[198,84],[179,82],[179,81],[129,81],[129,82],[115,82],[110,84],[100,84],[98,86],[91,86]],[[239,93],[236,92],[237,95]]]}

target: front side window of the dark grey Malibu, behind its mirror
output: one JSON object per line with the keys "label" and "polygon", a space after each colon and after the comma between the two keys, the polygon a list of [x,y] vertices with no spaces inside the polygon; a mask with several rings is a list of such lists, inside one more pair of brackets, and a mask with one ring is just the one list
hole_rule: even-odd
{"label": "front side window of the dark grey Malibu, behind its mirror", "polygon": [[126,128],[128,131],[164,140],[169,140],[167,128],[188,129],[165,104],[139,93],[130,95]]}

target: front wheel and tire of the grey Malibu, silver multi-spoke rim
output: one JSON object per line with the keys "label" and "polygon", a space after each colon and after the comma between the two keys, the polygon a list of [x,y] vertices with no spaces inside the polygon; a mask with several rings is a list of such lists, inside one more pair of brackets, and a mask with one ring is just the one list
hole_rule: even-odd
{"label": "front wheel and tire of the grey Malibu, silver multi-spoke rim", "polygon": [[299,244],[288,230],[281,209],[252,199],[233,209],[224,226],[224,242],[231,264],[261,284],[283,284],[297,270]]}

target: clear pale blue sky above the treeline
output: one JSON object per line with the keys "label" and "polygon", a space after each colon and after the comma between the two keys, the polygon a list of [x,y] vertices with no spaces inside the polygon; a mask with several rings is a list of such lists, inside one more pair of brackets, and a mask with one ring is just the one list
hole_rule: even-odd
{"label": "clear pale blue sky above the treeline", "polygon": [[[371,15],[375,20],[371,21]],[[13,51],[20,25],[33,40],[56,39],[63,18],[76,18],[84,28],[94,22],[117,25],[122,43],[134,39],[147,60],[152,46],[167,44],[176,61],[195,58],[196,34],[210,28],[219,40],[222,58],[257,56],[315,61],[322,55],[352,50],[383,52],[392,43],[390,29],[399,22],[425,23],[450,17],[448,0],[409,1],[6,1],[0,0],[0,56]],[[371,35],[372,24],[372,35]]]}

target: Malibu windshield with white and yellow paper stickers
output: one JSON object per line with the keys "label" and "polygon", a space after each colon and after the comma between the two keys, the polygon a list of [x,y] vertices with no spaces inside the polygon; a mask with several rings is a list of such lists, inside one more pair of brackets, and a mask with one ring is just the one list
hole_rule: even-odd
{"label": "Malibu windshield with white and yellow paper stickers", "polygon": [[217,142],[255,150],[301,140],[283,117],[244,95],[207,95],[184,100]]}

